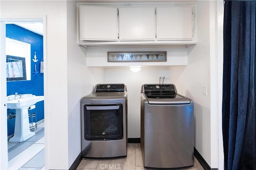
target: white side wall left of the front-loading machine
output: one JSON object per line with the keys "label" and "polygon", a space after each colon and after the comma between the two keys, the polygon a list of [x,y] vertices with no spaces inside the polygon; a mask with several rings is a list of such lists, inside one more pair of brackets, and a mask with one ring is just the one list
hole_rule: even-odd
{"label": "white side wall left of the front-loading machine", "polygon": [[67,1],[67,16],[68,167],[70,168],[81,152],[80,100],[92,93],[96,83],[103,83],[104,69],[86,67],[86,49],[76,43],[76,1]]}

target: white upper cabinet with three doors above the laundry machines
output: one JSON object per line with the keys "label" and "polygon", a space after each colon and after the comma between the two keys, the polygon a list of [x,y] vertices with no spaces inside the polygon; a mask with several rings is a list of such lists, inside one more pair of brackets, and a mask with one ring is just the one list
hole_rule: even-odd
{"label": "white upper cabinet with three doors above the laundry machines", "polygon": [[195,44],[196,4],[79,4],[79,40],[102,45]]}

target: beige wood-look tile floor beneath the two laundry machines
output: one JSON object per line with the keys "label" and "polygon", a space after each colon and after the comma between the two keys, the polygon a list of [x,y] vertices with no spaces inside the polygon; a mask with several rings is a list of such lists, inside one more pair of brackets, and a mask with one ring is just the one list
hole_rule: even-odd
{"label": "beige wood-look tile floor beneath the two laundry machines", "polygon": [[[128,143],[127,157],[118,159],[83,158],[77,170],[146,170],[143,166],[139,143]],[[204,170],[194,157],[194,166],[183,170]]]}

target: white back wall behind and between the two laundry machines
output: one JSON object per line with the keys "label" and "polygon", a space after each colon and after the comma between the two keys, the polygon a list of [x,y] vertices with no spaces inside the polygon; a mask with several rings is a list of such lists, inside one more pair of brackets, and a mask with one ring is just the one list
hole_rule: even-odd
{"label": "white back wall behind and between the two laundry machines", "polygon": [[132,72],[130,68],[104,69],[104,83],[125,83],[127,86],[128,138],[140,138],[141,86],[157,84],[159,77],[165,77],[164,83],[170,83],[168,67],[142,67],[138,72]]}

